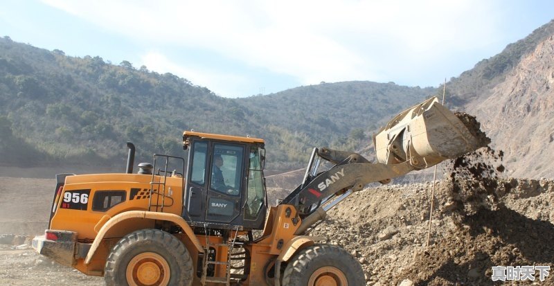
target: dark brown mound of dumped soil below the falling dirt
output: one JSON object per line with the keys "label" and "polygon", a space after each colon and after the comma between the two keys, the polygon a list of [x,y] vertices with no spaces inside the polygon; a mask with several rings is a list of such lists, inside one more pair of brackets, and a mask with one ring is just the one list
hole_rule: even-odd
{"label": "dark brown mound of dumped soil below the falling dirt", "polygon": [[[493,285],[492,267],[553,267],[551,222],[533,220],[501,207],[465,217],[462,229],[449,231],[424,251],[399,277],[415,285]],[[539,281],[539,272],[533,271]],[[540,285],[554,285],[549,278]],[[526,280],[528,284],[531,280]]]}

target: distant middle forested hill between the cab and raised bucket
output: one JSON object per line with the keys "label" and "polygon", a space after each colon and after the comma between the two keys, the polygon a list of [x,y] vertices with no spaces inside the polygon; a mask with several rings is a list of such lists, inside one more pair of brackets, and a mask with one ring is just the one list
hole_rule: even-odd
{"label": "distant middle forested hill between the cab and raised bucket", "polygon": [[296,87],[267,96],[238,98],[253,120],[265,124],[268,145],[285,169],[303,167],[312,148],[328,146],[363,152],[371,134],[398,112],[429,97],[434,88],[376,82],[337,82]]}

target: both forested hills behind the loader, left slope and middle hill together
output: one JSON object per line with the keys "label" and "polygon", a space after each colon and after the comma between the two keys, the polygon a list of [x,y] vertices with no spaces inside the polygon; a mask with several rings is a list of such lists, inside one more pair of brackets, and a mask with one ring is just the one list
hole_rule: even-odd
{"label": "both forested hills behind the loader, left slope and middle hill together", "polygon": [[269,96],[222,98],[170,73],[68,57],[0,38],[0,164],[119,165],[125,141],[141,161],[183,156],[185,129],[265,138],[268,167],[303,166],[311,148],[355,150],[383,120],[434,93],[339,82]]}

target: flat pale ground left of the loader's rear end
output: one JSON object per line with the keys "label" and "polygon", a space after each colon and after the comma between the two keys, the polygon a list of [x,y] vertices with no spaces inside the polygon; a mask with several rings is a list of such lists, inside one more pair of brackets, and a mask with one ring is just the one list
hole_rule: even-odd
{"label": "flat pale ground left of the loader's rear end", "polygon": [[0,285],[103,285],[30,247],[48,225],[55,179],[0,177]]}

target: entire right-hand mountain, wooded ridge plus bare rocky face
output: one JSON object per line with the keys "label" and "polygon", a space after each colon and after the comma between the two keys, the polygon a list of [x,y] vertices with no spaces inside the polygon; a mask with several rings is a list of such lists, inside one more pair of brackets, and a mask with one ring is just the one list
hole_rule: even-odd
{"label": "entire right-hand mountain, wooded ridge plus bare rocky face", "polygon": [[554,21],[453,78],[447,91],[503,150],[507,176],[554,178]]}

